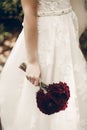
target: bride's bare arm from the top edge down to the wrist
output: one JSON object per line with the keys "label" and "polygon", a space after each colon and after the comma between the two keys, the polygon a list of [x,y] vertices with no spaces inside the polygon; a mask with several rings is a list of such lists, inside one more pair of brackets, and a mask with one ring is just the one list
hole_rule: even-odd
{"label": "bride's bare arm from the top edge down to the wrist", "polygon": [[38,60],[38,0],[21,0],[24,11],[24,36],[29,62]]}

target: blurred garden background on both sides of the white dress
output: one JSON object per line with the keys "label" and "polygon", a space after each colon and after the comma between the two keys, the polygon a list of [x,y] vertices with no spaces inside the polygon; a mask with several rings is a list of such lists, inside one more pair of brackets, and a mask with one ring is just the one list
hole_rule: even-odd
{"label": "blurred garden background on both sides of the white dress", "polygon": [[[22,30],[20,0],[0,0],[0,72]],[[87,59],[87,29],[80,37],[81,50]]]}

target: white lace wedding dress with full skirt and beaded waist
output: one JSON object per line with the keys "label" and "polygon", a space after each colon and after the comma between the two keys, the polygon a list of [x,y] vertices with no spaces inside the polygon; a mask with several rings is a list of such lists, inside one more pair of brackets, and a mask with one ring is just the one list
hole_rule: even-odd
{"label": "white lace wedding dress with full skirt and beaded waist", "polygon": [[19,69],[27,62],[22,30],[1,73],[3,130],[87,130],[87,62],[79,48],[78,20],[70,0],[39,0],[38,32],[42,81],[69,85],[68,108],[49,116],[37,108],[39,88]]}

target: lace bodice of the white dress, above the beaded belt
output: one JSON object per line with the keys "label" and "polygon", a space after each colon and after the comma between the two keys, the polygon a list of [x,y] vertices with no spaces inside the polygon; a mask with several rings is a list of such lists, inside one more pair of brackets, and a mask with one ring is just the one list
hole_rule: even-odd
{"label": "lace bodice of the white dress, above the beaded belt", "polygon": [[38,0],[38,16],[71,7],[70,0]]}

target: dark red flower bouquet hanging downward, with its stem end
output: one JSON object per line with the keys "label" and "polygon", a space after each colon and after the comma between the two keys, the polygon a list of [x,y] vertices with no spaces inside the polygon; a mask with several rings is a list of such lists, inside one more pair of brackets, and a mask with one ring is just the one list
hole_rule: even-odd
{"label": "dark red flower bouquet hanging downward, with its stem end", "polygon": [[[22,63],[19,68],[26,71],[26,64]],[[40,82],[38,86],[40,89],[36,93],[36,102],[41,112],[51,115],[67,108],[70,91],[66,83],[59,82],[46,85]]]}

